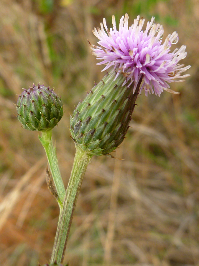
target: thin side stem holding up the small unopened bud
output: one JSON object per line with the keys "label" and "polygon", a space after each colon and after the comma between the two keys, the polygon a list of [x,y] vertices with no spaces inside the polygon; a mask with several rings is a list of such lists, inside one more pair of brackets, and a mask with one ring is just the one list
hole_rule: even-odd
{"label": "thin side stem holding up the small unopened bud", "polygon": [[47,158],[48,158],[48,163],[50,165],[50,171],[52,173],[52,178],[55,184],[55,188],[57,190],[58,194],[58,202],[59,205],[62,205],[64,197],[65,197],[65,187],[63,184],[63,180],[60,174],[59,166],[58,166],[58,161],[57,161],[57,155],[55,152],[55,147],[53,146],[52,143],[52,129],[48,131],[42,131],[41,137],[39,136],[39,140],[42,143]]}

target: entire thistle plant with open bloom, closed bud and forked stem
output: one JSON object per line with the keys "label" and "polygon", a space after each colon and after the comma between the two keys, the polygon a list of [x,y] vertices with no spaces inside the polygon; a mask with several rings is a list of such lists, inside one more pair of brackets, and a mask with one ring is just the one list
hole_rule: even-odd
{"label": "entire thistle plant with open bloom, closed bud and forked stem", "polygon": [[[52,130],[51,126],[56,124],[63,114],[62,106],[57,104],[58,98],[54,94],[49,98],[45,87],[45,93],[41,95],[45,100],[50,99],[49,103],[53,108],[42,101],[44,100],[42,98],[40,112],[37,112],[39,116],[36,116],[35,101],[39,101],[40,93],[33,93],[34,97],[31,98],[25,91],[25,96],[19,96],[17,103],[19,120],[27,129],[42,131],[40,141],[46,150],[60,205],[51,263],[63,262],[78,193],[91,158],[94,155],[113,157],[110,153],[124,140],[139,94],[144,92],[147,96],[155,93],[160,96],[163,90],[178,94],[170,89],[169,83],[182,82],[183,78],[189,76],[182,73],[190,66],[184,67],[179,63],[186,57],[186,46],[182,45],[171,52],[172,44],[178,42],[176,32],[169,34],[162,42],[164,30],[162,25],[154,24],[154,17],[147,22],[144,31],[142,30],[144,19],[138,16],[130,27],[128,27],[128,19],[127,14],[121,17],[119,30],[116,28],[114,16],[112,17],[113,28],[108,29],[106,20],[103,19],[101,28],[93,30],[94,35],[99,39],[98,46],[89,44],[97,59],[102,60],[98,64],[105,64],[102,71],[106,70],[106,73],[85,99],[80,100],[71,116],[70,132],[75,142],[76,154],[66,192],[58,170],[57,159],[53,161],[53,158],[56,158],[55,151],[51,144],[51,149],[46,144],[51,139],[51,133],[47,132]],[[110,69],[109,72],[107,69]],[[39,91],[40,88],[38,86],[37,90]],[[47,112],[47,110],[50,111]],[[47,127],[41,129],[41,125],[44,124],[47,124]],[[52,152],[51,155],[50,152]],[[56,171],[53,170],[55,168]]]}

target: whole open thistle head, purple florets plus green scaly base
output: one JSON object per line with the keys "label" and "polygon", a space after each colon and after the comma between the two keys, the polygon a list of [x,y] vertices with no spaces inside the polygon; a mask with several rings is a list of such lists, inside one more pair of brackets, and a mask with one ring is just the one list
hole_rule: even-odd
{"label": "whole open thistle head, purple florets plus green scaly base", "polygon": [[186,46],[170,52],[171,44],[178,41],[176,32],[162,44],[164,30],[162,25],[154,24],[154,17],[144,32],[143,19],[138,16],[129,28],[128,19],[127,14],[121,18],[119,30],[114,16],[113,29],[108,30],[103,19],[101,29],[93,30],[100,45],[90,44],[93,54],[102,60],[98,64],[106,64],[103,70],[111,66],[112,69],[80,101],[70,121],[76,145],[91,155],[107,155],[121,144],[142,90],[145,95],[160,95],[163,90],[175,93],[168,83],[189,76],[181,73],[190,66],[178,64],[186,57]]}

